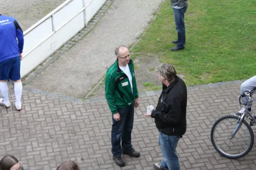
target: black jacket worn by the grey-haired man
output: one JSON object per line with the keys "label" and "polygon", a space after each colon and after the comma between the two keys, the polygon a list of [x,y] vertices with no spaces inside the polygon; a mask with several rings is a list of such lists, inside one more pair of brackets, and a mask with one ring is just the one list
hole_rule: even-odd
{"label": "black jacket worn by the grey-haired man", "polygon": [[166,135],[182,136],[186,132],[187,90],[177,77],[168,87],[163,85],[157,107],[151,113],[157,129]]}

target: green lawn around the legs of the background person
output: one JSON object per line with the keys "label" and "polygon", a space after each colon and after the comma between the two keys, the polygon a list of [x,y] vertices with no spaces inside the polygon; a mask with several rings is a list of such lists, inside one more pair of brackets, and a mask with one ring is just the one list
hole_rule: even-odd
{"label": "green lawn around the legs of the background person", "polygon": [[177,31],[166,0],[131,52],[156,54],[184,74],[187,85],[247,79],[256,68],[255,9],[255,0],[189,1],[186,48],[172,52]]}

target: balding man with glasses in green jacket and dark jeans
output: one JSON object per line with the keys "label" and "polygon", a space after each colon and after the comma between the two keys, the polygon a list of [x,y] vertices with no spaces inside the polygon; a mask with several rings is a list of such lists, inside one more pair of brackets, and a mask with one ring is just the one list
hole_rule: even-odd
{"label": "balding man with glasses in green jacket and dark jeans", "polygon": [[[113,160],[118,166],[125,166],[121,153],[133,157],[140,156],[131,145],[134,108],[139,106],[139,94],[128,48],[120,45],[116,48],[115,54],[116,62],[108,69],[105,78],[105,96],[113,115],[111,131]],[[121,139],[122,144],[120,144]]]}

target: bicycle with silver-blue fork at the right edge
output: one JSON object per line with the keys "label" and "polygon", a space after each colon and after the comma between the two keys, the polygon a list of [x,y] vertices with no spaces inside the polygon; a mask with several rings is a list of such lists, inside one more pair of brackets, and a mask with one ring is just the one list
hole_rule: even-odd
{"label": "bicycle with silver-blue fork at the right edge", "polygon": [[[256,101],[256,99],[252,98],[254,90],[256,88],[245,91],[239,96],[240,106],[244,105],[240,101],[243,97],[249,98],[247,104],[241,109],[240,116],[222,116],[212,126],[212,145],[218,153],[226,158],[241,158],[247,155],[253,147],[254,134],[251,126],[256,124],[256,116],[252,116],[248,108],[251,108],[253,102]],[[246,119],[250,120],[250,125],[246,122]],[[249,143],[247,144],[246,142]]]}

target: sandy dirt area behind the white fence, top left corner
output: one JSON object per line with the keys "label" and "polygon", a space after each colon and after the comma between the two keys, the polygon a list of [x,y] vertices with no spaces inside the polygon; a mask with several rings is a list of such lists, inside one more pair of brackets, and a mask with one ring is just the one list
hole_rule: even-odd
{"label": "sandy dirt area behind the white fence, top left corner", "polygon": [[66,0],[1,0],[3,15],[15,17],[23,31],[41,20]]}

